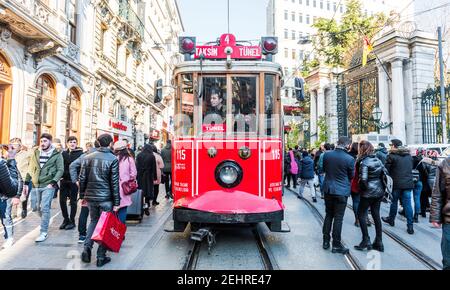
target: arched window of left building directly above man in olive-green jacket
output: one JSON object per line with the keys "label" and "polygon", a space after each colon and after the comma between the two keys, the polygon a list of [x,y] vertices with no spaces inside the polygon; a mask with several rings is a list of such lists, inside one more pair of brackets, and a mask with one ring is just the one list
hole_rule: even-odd
{"label": "arched window of left building directly above man in olive-green jacket", "polygon": [[36,89],[38,94],[35,102],[34,142],[38,144],[38,138],[42,133],[54,135],[56,111],[55,83],[49,75],[43,74],[36,81]]}

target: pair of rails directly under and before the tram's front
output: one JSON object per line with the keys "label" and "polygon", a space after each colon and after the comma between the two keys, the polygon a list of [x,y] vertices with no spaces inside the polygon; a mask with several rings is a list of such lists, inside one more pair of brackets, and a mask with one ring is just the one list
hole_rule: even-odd
{"label": "pair of rails directly under and before the tram's front", "polygon": [[[264,235],[261,233],[260,229],[258,229],[258,225],[253,226],[251,228],[251,231],[258,248],[258,254],[261,259],[261,264],[264,267],[263,270],[279,270],[280,268],[278,266],[278,263],[276,262],[276,259],[270,249],[267,247],[267,241]],[[203,250],[201,241],[192,240],[190,249],[186,256],[186,261],[183,265],[183,270],[196,270],[200,253]]]}

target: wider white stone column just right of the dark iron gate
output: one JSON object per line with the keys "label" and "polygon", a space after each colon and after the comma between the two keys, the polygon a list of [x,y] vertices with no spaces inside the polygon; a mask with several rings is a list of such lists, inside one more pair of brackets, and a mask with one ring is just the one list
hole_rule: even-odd
{"label": "wider white stone column just right of the dark iron gate", "polygon": [[393,135],[406,143],[405,98],[403,96],[403,60],[392,62],[392,122]]}

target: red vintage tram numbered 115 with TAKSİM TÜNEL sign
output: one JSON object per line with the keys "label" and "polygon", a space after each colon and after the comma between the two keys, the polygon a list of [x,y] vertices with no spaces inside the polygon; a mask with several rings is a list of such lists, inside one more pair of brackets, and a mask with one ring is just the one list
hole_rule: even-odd
{"label": "red vintage tram numbered 115 with TAKS\u0130M T\u00dcNEL sign", "polygon": [[265,222],[282,230],[283,140],[277,38],[246,46],[180,37],[174,70],[174,231],[191,224]]}

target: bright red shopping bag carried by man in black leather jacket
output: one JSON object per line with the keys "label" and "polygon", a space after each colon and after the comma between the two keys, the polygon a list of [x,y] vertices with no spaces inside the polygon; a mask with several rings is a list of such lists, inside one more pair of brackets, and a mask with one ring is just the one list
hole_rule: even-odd
{"label": "bright red shopping bag carried by man in black leather jacket", "polygon": [[119,220],[117,213],[103,211],[91,239],[108,250],[118,253],[126,230],[127,226]]}

